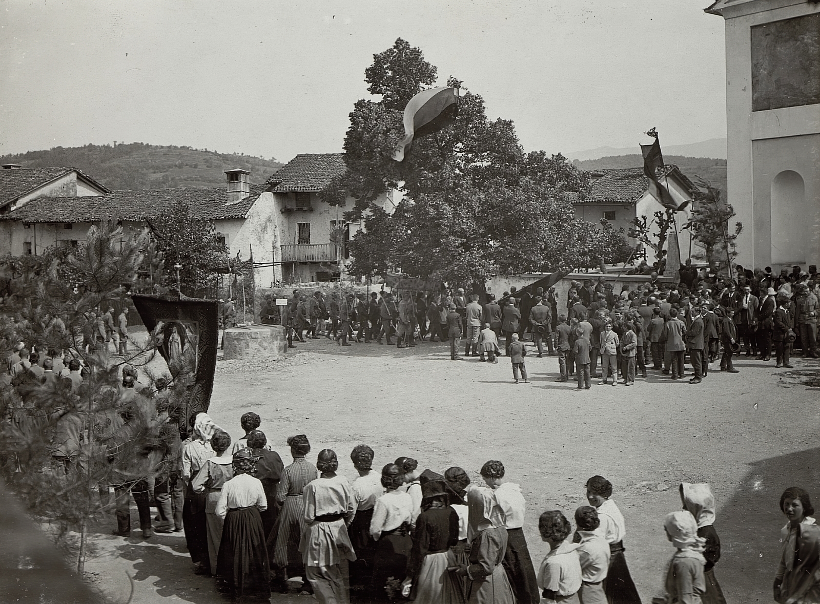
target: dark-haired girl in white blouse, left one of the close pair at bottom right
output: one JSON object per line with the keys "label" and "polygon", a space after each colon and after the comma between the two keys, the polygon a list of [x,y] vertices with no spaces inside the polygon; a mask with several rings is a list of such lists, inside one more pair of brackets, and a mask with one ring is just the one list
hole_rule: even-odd
{"label": "dark-haired girl in white blouse, left one of the close pair at bottom right", "polygon": [[538,530],[541,539],[549,543],[549,553],[544,556],[538,571],[541,602],[580,604],[581,559],[578,543],[567,542],[572,533],[569,520],[560,511],[545,511],[538,519]]}

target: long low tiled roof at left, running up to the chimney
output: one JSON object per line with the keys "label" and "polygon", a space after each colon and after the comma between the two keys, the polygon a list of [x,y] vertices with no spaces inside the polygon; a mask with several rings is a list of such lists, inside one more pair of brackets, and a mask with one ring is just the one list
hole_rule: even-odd
{"label": "long low tiled roof at left, running up to the chimney", "polygon": [[119,216],[120,220],[144,220],[157,216],[177,201],[186,202],[194,216],[205,220],[245,218],[264,187],[251,185],[251,194],[240,202],[226,205],[224,187],[154,188],[113,191],[107,195],[82,198],[43,197],[0,216],[0,220],[23,222],[93,222],[102,216]]}

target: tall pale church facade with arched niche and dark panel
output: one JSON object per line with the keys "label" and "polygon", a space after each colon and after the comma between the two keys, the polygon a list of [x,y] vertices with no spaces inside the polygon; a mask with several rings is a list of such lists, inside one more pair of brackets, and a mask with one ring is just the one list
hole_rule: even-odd
{"label": "tall pale church facade with arched niche and dark panel", "polygon": [[717,0],[726,25],[728,202],[743,266],[820,259],[820,3]]}

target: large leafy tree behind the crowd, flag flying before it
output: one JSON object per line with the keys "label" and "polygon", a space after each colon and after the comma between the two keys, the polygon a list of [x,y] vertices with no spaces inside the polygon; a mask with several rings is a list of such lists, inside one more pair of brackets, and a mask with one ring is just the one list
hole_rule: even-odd
{"label": "large leafy tree behind the crowd, flag flying before it", "polygon": [[[354,275],[397,267],[408,275],[454,283],[499,272],[572,269],[624,260],[622,231],[576,219],[572,198],[590,187],[587,173],[565,157],[525,153],[511,120],[486,116],[480,95],[461,89],[458,119],[413,141],[404,161],[392,159],[403,137],[403,107],[435,84],[437,70],[418,48],[398,39],[365,71],[371,93],[350,114],[344,142],[348,170],[323,191],[330,203],[353,197],[346,217],[364,218],[350,250]],[[389,188],[405,197],[392,216],[373,203]],[[623,242],[618,243],[618,238]]]}

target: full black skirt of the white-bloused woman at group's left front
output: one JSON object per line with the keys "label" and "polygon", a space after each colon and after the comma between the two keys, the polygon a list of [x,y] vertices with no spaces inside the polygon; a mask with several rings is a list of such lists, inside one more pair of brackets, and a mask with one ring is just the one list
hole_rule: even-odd
{"label": "full black skirt of the white-bloused woman at group's left front", "polygon": [[222,528],[216,575],[232,597],[271,598],[265,530],[257,506],[229,510]]}

